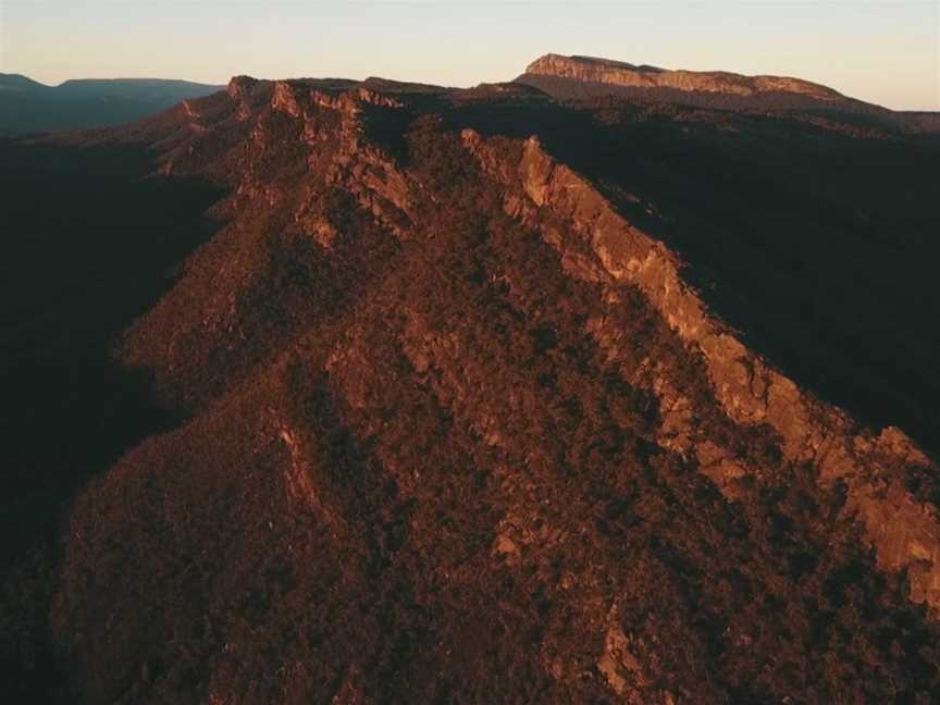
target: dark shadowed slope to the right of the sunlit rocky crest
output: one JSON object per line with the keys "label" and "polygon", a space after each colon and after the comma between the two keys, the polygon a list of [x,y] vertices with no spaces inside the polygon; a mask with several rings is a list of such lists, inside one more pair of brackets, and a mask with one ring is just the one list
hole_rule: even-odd
{"label": "dark shadowed slope to the right of the sunlit rocky crest", "polygon": [[596,115],[485,104],[447,121],[484,135],[537,128],[548,152],[681,255],[752,348],[866,425],[899,425],[940,454],[940,141],[676,107]]}

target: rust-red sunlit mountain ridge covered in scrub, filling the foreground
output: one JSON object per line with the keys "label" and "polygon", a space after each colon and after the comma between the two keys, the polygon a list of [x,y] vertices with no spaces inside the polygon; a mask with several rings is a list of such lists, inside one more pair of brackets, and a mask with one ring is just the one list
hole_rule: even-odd
{"label": "rust-red sunlit mountain ridge covered in scrub, filling the foreground", "polygon": [[[585,134],[629,151],[601,162]],[[700,145],[730,159],[715,135],[849,154],[876,139],[512,84],[248,77],[83,137],[225,191],[218,232],[118,346],[181,420],[75,500],[50,590],[66,692],[929,702],[937,466],[910,417],[868,428],[803,382],[841,348],[784,373],[792,358],[725,322],[744,309],[700,288],[709,260],[670,246],[690,212],[717,231],[718,200],[643,185],[697,173],[681,160]],[[907,139],[877,153],[927,169],[936,148]],[[851,208],[825,222],[861,222]],[[765,235],[743,267],[764,271]],[[767,286],[806,269],[797,245]],[[920,404],[926,382],[906,384]]]}

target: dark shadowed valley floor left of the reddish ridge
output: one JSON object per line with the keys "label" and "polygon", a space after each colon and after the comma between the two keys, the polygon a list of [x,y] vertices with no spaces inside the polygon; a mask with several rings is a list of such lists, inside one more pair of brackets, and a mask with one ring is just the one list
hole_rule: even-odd
{"label": "dark shadowed valley floor left of the reddish ridge", "polygon": [[219,227],[220,193],[153,169],[143,148],[0,143],[0,684],[30,702],[58,680],[45,628],[72,497],[177,421],[110,350]]}

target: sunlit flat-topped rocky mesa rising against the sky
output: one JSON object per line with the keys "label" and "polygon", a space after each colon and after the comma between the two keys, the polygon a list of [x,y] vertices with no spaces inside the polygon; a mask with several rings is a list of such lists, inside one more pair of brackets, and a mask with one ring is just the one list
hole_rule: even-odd
{"label": "sunlit flat-topped rocky mesa rising against the sky", "polygon": [[633,65],[622,61],[592,57],[562,57],[548,53],[533,61],[525,74],[554,76],[624,88],[672,88],[735,96],[767,92],[799,94],[817,100],[844,100],[840,92],[800,78],[784,76],[744,76],[723,71],[669,71],[656,66]]}

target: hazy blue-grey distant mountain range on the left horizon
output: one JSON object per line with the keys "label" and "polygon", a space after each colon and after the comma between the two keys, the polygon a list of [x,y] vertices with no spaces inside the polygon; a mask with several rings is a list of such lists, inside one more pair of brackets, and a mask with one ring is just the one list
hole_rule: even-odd
{"label": "hazy blue-grey distant mountain range on the left horizon", "polygon": [[81,79],[47,86],[18,74],[0,74],[0,135],[120,125],[220,89],[160,78]]}

